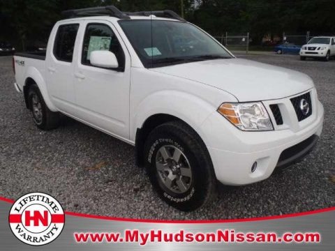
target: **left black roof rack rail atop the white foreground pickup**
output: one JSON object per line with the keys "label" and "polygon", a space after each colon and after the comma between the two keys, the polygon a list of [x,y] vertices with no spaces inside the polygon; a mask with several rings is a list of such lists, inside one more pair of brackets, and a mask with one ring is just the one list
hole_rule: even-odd
{"label": "left black roof rack rail atop the white foreground pickup", "polygon": [[82,8],[77,10],[65,10],[61,13],[64,17],[82,17],[82,16],[95,16],[95,15],[110,15],[112,17],[118,17],[120,19],[130,19],[128,15],[122,13],[115,6],[104,6],[94,8]]}

